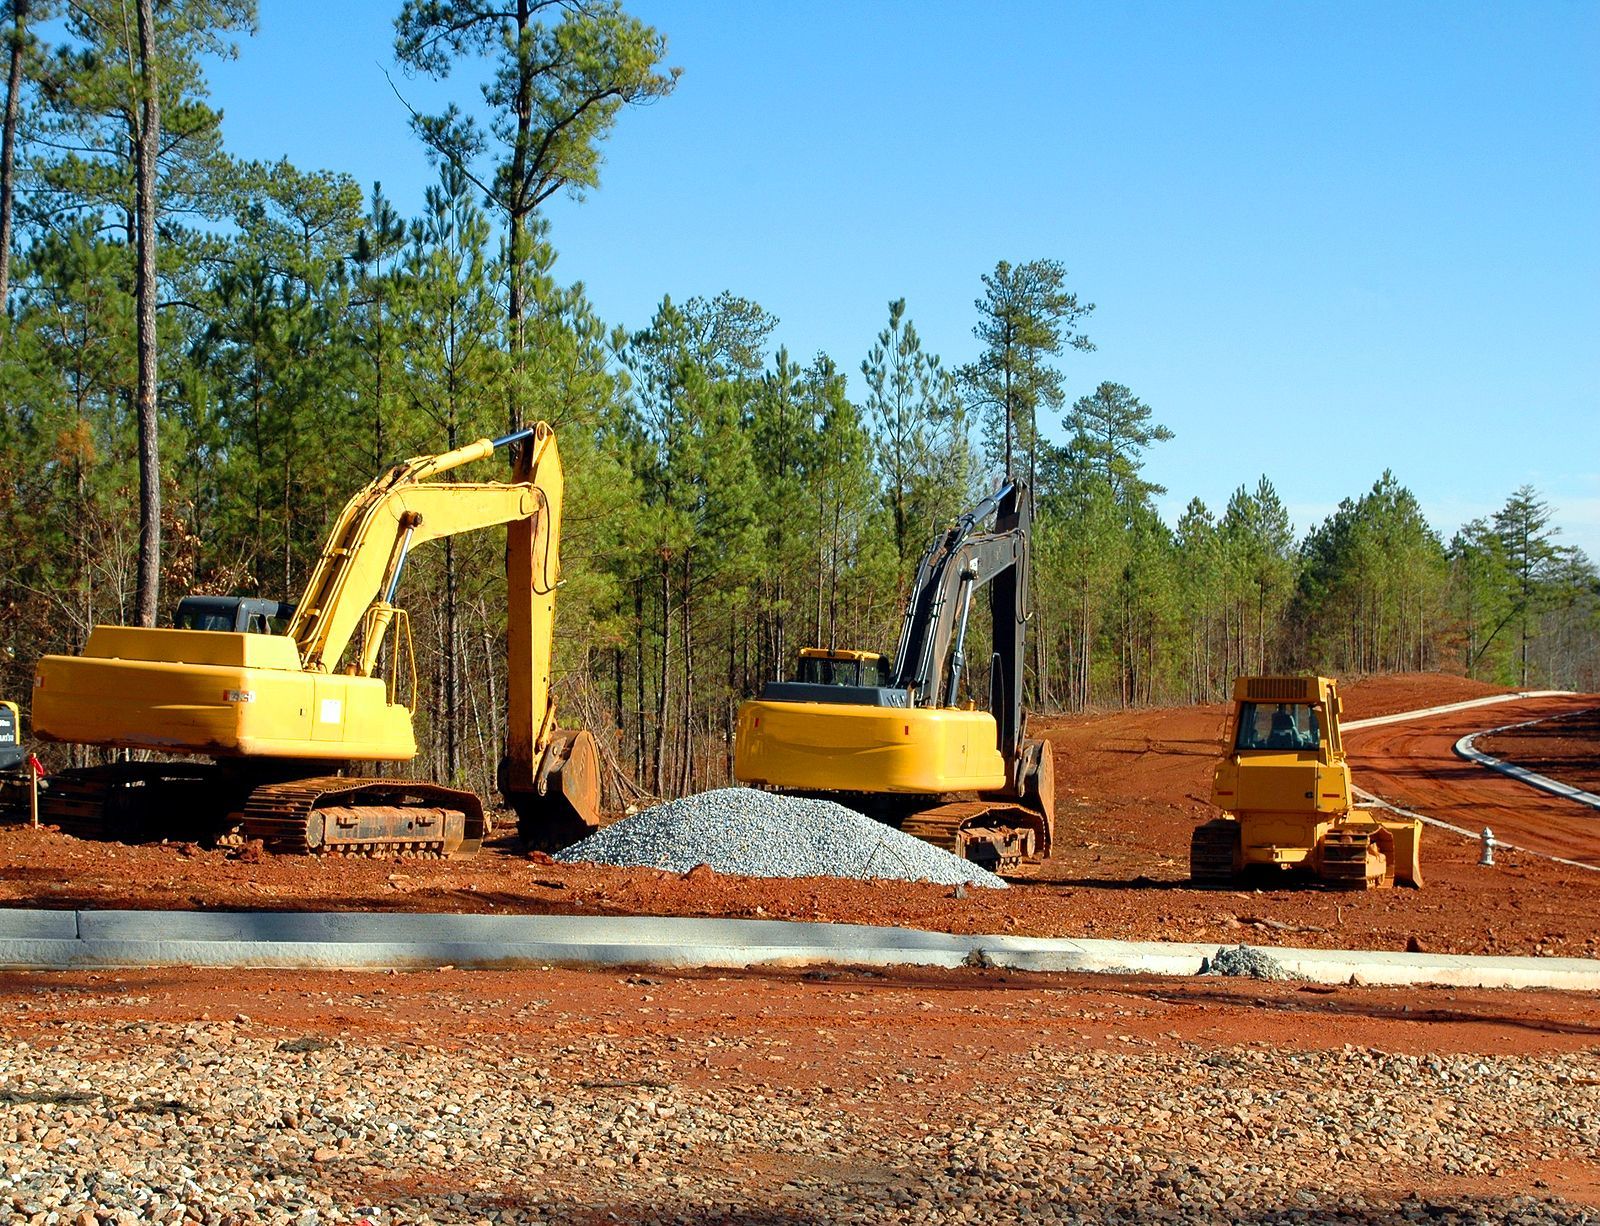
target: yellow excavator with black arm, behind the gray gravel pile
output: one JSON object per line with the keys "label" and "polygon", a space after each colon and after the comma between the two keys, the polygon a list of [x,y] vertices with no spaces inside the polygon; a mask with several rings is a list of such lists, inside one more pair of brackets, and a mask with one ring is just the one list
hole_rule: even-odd
{"label": "yellow excavator with black arm, behind the gray gravel pile", "polygon": [[[994,867],[1048,855],[1050,744],[1024,736],[1022,715],[1030,527],[1030,493],[1008,482],[934,538],[893,664],[805,648],[798,680],[768,682],[739,706],[734,778],[837,799]],[[958,699],[968,616],[986,586],[994,651],[982,711]]]}

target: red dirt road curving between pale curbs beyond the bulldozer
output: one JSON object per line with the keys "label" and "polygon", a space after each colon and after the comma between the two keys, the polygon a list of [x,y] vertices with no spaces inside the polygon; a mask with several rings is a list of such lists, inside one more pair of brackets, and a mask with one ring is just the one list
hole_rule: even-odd
{"label": "red dirt road curving between pale curbs beyond the bulldozer", "polygon": [[[1467,831],[1600,867],[1600,811],[1456,757],[1462,736],[1590,709],[1594,695],[1530,698],[1346,735],[1350,773],[1384,800]],[[1429,834],[1434,834],[1430,831]],[[1438,835],[1448,837],[1448,835]],[[1600,875],[1600,874],[1597,874]],[[1595,882],[1600,890],[1600,880]]]}

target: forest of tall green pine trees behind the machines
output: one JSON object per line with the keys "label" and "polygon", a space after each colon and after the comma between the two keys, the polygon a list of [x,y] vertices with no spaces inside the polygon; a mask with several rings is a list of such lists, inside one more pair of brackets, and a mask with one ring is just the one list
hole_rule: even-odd
{"label": "forest of tall green pine trees behind the machines", "polygon": [[[930,535],[1006,461],[1038,499],[1035,711],[1270,669],[1600,688],[1600,579],[1533,488],[1448,536],[1390,471],[1304,536],[1266,475],[1165,522],[1144,459],[1173,435],[1136,389],[1074,384],[1094,307],[1054,259],[971,270],[960,368],[894,286],[848,354],[792,354],[738,286],[598,319],[541,205],[597,187],[608,131],[677,74],[618,3],[520,8],[509,32],[475,0],[397,14],[402,64],[485,80],[413,117],[437,181],[402,218],[378,186],[227,152],[202,64],[248,54],[248,0],[0,5],[0,695],[189,592],[293,600],[384,464],[539,418],[568,474],[562,711],[619,800],[725,783],[736,704],[798,647],[891,647]],[[421,554],[402,599],[418,770],[488,792],[501,539]]]}

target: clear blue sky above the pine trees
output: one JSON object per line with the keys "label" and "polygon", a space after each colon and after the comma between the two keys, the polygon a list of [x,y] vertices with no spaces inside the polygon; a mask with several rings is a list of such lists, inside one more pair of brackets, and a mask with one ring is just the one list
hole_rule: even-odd
{"label": "clear blue sky above the pine trees", "polygon": [[[682,83],[550,213],[610,323],[728,288],[854,371],[904,296],[960,363],[979,275],[1048,256],[1096,302],[1070,395],[1176,432],[1168,519],[1264,472],[1302,533],[1387,466],[1446,539],[1533,483],[1600,559],[1600,3],[629,8]],[[414,211],[397,11],[261,0],[213,70],[234,152]]]}

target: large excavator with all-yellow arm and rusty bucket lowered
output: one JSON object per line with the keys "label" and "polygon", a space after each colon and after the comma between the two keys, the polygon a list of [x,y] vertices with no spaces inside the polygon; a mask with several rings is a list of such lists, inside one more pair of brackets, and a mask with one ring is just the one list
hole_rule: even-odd
{"label": "large excavator with all-yellow arm and rusty bucket lowered", "polygon": [[[512,448],[510,482],[434,480],[501,447]],[[166,755],[56,775],[45,821],[130,842],[240,826],[272,851],[475,853],[488,823],[474,792],[352,770],[416,755],[416,659],[395,603],[410,552],[504,523],[509,719],[498,783],[525,842],[582,837],[598,824],[598,749],[589,731],[557,727],[550,691],[562,493],[544,423],[418,456],[350,498],[293,611],[192,597],[178,627],[96,626],[82,656],[43,656],[38,739]]]}

